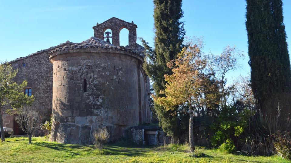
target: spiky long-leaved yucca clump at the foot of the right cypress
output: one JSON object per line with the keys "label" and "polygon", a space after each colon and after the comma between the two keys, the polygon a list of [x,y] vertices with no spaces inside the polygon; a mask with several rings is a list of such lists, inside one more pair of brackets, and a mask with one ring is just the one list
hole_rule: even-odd
{"label": "spiky long-leaved yucca clump at the foot of the right cypress", "polygon": [[276,153],[274,144],[278,137],[290,129],[290,123],[282,124],[280,121],[279,105],[276,117],[271,119],[258,113],[251,116],[248,123],[239,136],[239,142],[241,149],[249,155],[274,155]]}

